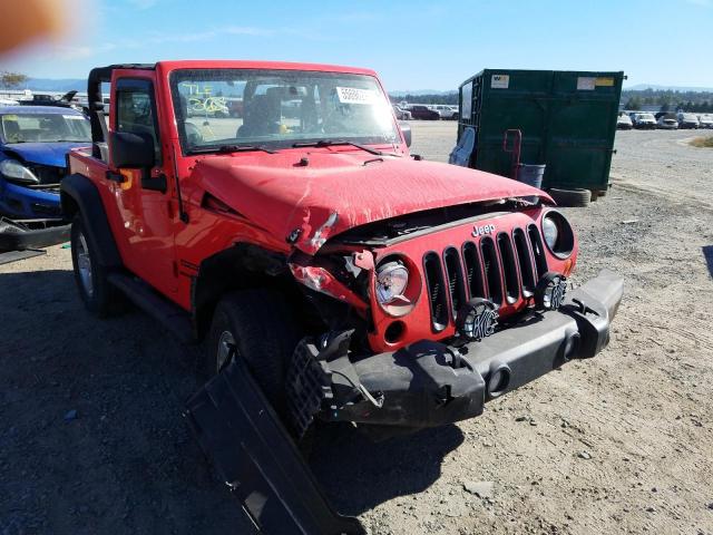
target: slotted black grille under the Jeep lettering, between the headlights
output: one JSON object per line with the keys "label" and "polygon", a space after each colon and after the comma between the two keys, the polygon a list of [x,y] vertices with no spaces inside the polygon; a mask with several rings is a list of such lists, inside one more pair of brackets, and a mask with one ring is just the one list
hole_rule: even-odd
{"label": "slotted black grille under the Jeep lettering, between the headlights", "polygon": [[536,225],[504,232],[496,237],[468,241],[461,250],[448,246],[441,257],[423,256],[426,286],[434,331],[455,321],[468,299],[487,298],[498,307],[530,298],[539,278],[547,272],[547,259]]}

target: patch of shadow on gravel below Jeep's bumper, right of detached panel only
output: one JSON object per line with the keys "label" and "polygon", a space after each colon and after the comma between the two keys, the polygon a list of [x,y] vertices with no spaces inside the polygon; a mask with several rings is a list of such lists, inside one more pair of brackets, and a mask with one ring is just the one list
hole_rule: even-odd
{"label": "patch of shadow on gravel below Jeep's bumper, right of detached panel only", "polygon": [[462,442],[453,425],[379,442],[349,425],[325,425],[316,434],[310,467],[332,506],[356,516],[426,490],[440,477],[443,458]]}

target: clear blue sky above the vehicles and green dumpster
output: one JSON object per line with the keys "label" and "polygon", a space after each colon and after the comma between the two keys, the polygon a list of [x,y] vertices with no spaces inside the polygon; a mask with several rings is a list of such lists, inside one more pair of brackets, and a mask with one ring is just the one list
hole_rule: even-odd
{"label": "clear blue sky above the vehicles and green dumpster", "polygon": [[116,62],[266,59],[372,68],[390,91],[456,89],[484,68],[624,70],[625,87],[713,87],[713,0],[66,3],[67,38],[0,57],[0,70],[85,78]]}

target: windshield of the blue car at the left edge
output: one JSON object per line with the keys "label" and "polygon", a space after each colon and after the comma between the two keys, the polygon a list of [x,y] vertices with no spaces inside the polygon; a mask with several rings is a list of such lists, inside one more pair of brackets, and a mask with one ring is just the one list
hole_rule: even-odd
{"label": "windshield of the blue car at the left edge", "polygon": [[91,142],[89,121],[74,114],[2,114],[2,143]]}

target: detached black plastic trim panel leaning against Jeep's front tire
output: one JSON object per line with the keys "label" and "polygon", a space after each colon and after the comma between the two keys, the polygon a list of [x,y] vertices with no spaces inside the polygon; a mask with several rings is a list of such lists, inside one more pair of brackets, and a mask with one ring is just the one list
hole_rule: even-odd
{"label": "detached black plastic trim panel leaning against Jeep's front tire", "polygon": [[330,507],[242,359],[188,400],[186,417],[257,533],[365,534],[359,521]]}

